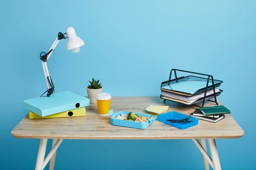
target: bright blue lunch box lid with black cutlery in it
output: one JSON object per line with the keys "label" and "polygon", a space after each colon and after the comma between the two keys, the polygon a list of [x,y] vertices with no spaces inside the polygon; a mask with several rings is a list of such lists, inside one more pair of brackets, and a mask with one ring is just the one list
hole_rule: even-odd
{"label": "bright blue lunch box lid with black cutlery in it", "polygon": [[[169,121],[166,121],[166,120],[170,120],[170,119],[172,119],[172,120],[173,119],[182,120],[182,119],[185,119],[186,117],[189,117],[188,121],[192,121],[192,122],[189,122],[189,123],[186,123],[186,122],[171,123]],[[196,119],[194,117],[191,117],[191,116],[188,116],[188,115],[183,114],[183,113],[176,112],[176,111],[170,111],[170,112],[167,112],[167,113],[160,114],[160,115],[157,116],[157,120],[159,122],[163,122],[167,125],[176,127],[178,129],[186,129],[186,128],[189,128],[189,127],[192,127],[192,126],[195,126],[195,125],[198,124],[198,119]]]}

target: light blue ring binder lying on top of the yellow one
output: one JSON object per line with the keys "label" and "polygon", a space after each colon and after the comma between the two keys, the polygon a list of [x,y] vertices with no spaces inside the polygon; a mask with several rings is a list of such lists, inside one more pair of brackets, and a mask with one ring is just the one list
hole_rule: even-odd
{"label": "light blue ring binder lying on top of the yellow one", "polygon": [[37,97],[23,101],[24,108],[39,116],[48,116],[88,105],[90,105],[90,99],[70,91],[55,93],[49,97]]}

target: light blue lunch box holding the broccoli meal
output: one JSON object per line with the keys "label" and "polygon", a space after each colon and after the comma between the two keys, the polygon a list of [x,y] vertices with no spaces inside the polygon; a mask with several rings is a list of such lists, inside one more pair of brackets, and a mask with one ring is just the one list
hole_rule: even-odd
{"label": "light blue lunch box holding the broccoli meal", "polygon": [[115,119],[116,116],[121,115],[121,114],[129,114],[130,112],[128,111],[119,111],[117,113],[113,112],[113,109],[111,111],[109,111],[108,115],[112,116],[111,117],[111,124],[115,125],[115,126],[124,126],[124,127],[132,127],[132,128],[137,128],[137,129],[145,129],[147,128],[152,122],[154,122],[154,120],[157,117],[153,117],[153,115],[151,114],[145,114],[145,113],[135,113],[138,114],[140,116],[149,116],[150,118],[148,119],[147,122],[132,122],[132,121],[127,121],[127,120],[120,120],[120,119]]}

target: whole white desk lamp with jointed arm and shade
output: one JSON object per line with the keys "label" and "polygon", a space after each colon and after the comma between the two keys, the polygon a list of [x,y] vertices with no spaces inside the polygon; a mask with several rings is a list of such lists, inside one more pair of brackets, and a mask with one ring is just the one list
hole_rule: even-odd
{"label": "whole white desk lamp with jointed arm and shade", "polygon": [[[64,36],[65,34],[67,35],[67,37]],[[62,34],[61,32],[59,32],[58,37],[53,42],[48,53],[45,54],[45,52],[41,52],[41,54],[44,53],[43,56],[41,56],[41,54],[40,54],[40,59],[41,59],[43,69],[44,69],[44,76],[45,76],[46,83],[47,83],[47,91],[48,91],[47,96],[50,96],[51,94],[54,93],[54,85],[52,83],[52,78],[49,75],[49,71],[48,71],[46,62],[48,61],[49,57],[51,56],[52,51],[54,51],[54,49],[58,45],[58,42],[62,39],[68,39],[67,40],[67,50],[71,50],[73,53],[79,53],[80,47],[84,45],[84,41],[81,38],[76,36],[76,31],[73,27],[68,27],[65,34]],[[47,91],[45,91],[44,93],[46,93]],[[43,96],[43,95],[44,94],[42,94],[41,96]]]}

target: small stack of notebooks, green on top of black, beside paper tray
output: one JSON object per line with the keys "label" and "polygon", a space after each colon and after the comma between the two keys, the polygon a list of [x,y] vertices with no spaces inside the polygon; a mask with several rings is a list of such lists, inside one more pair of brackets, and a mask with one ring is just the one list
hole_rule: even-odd
{"label": "small stack of notebooks, green on top of black, beside paper tray", "polygon": [[231,113],[225,106],[212,106],[212,107],[203,107],[199,109],[195,109],[194,113],[190,115],[197,119],[206,120],[209,122],[216,123],[221,119],[224,119],[224,114]]}

